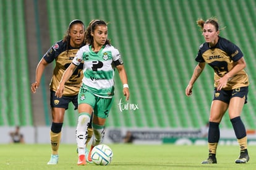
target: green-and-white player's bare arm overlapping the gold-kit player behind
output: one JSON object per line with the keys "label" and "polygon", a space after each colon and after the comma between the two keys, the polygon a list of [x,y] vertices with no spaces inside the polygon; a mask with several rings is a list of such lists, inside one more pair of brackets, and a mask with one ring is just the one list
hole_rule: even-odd
{"label": "green-and-white player's bare arm overlapping the gold-kit player behind", "polygon": [[58,86],[57,91],[55,93],[55,95],[58,98],[62,97],[63,92],[64,92],[64,85],[67,82],[67,80],[69,80],[71,75],[74,73],[75,69],[77,69],[77,66],[74,63],[72,63],[72,64],[69,65],[69,67],[67,67],[64,74],[62,75],[61,82],[59,82],[59,86]]}

